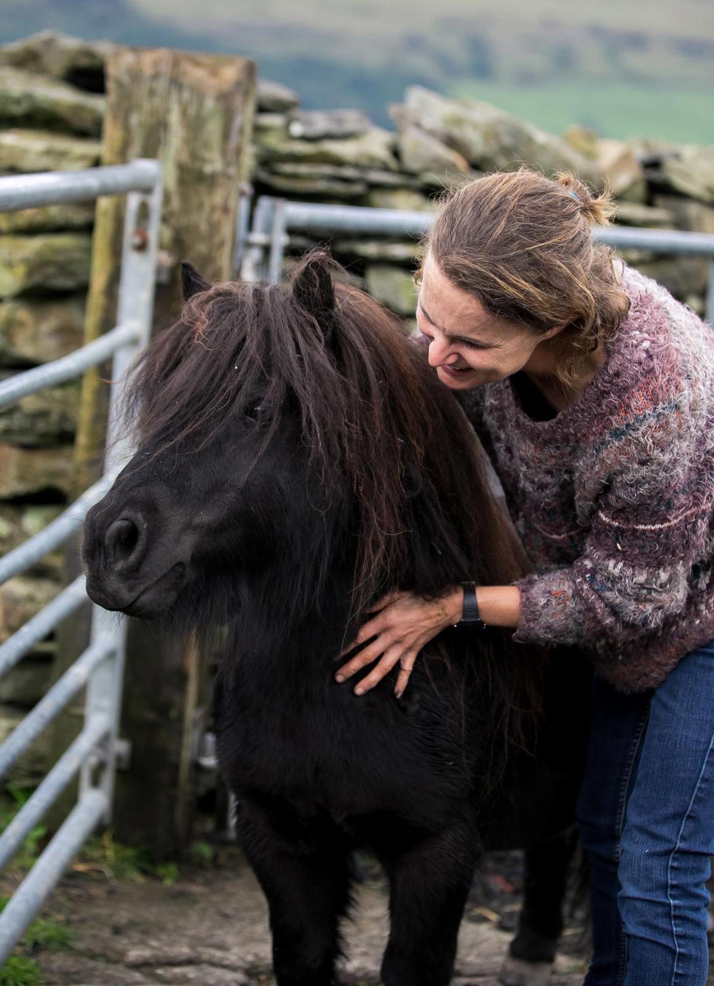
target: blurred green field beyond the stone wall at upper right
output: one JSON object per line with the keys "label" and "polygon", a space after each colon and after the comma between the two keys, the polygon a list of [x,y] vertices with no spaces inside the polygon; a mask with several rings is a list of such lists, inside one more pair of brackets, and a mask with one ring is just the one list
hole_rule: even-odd
{"label": "blurred green field beyond the stone wall at upper right", "polygon": [[599,80],[523,87],[484,80],[458,84],[450,95],[492,103],[554,133],[562,133],[571,123],[582,123],[606,137],[714,144],[711,90],[657,89]]}

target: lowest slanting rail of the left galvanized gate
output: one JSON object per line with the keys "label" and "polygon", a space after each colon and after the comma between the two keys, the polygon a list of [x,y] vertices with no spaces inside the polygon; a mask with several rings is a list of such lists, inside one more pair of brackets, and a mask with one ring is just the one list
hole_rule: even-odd
{"label": "lowest slanting rail of the left galvanized gate", "polygon": [[101,791],[88,791],[70,811],[0,914],[0,965],[35,917],[107,809]]}

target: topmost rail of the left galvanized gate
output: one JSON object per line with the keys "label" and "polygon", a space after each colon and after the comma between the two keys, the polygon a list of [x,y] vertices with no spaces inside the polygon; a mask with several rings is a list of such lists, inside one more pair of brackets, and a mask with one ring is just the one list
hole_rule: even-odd
{"label": "topmost rail of the left galvanized gate", "polygon": [[0,177],[0,212],[84,202],[100,195],[123,195],[139,189],[151,191],[161,182],[158,161],[140,158],[128,165],[86,168],[76,172]]}

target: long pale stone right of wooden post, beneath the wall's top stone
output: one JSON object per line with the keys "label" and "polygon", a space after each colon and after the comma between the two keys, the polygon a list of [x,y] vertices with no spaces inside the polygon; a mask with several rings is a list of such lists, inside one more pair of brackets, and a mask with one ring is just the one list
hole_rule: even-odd
{"label": "long pale stone right of wooden post, beneath the wall's top stone", "polygon": [[394,135],[381,127],[342,140],[296,140],[267,130],[255,134],[255,146],[257,159],[263,165],[294,161],[392,171],[398,167],[393,155]]}

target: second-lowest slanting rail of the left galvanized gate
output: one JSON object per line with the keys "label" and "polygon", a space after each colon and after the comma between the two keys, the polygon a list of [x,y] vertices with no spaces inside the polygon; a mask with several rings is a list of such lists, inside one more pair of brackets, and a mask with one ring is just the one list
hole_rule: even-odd
{"label": "second-lowest slanting rail of the left galvanized gate", "polygon": [[0,870],[15,856],[23,840],[44,816],[45,811],[55,803],[98,744],[105,739],[110,728],[111,724],[106,716],[91,719],[45,775],[32,797],[0,835]]}

